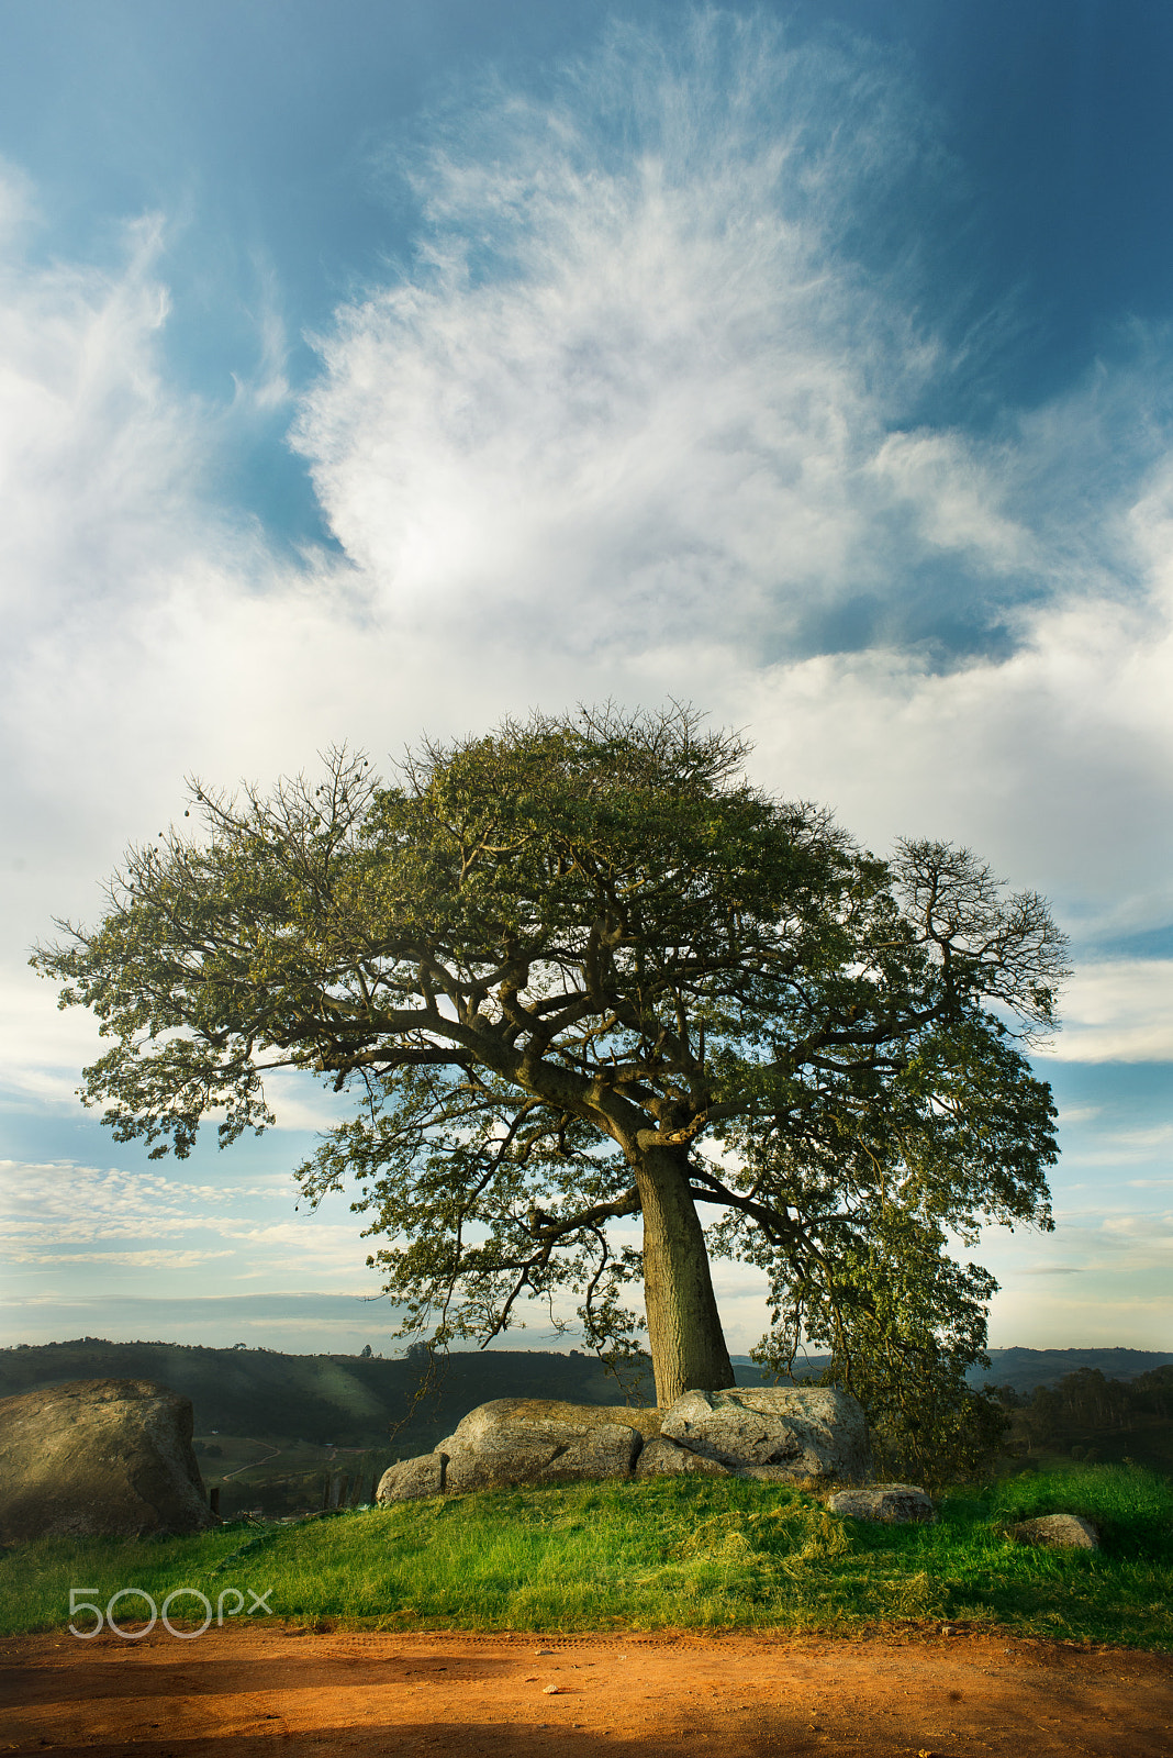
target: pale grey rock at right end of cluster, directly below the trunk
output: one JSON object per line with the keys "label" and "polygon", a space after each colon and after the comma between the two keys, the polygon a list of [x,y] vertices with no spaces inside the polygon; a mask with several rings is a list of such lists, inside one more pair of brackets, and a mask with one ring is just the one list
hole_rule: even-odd
{"label": "pale grey rock at right end of cluster, directly below the trunk", "polygon": [[829,1385],[745,1385],[685,1392],[660,1424],[666,1440],[732,1471],[790,1482],[801,1477],[860,1482],[871,1475],[864,1412]]}

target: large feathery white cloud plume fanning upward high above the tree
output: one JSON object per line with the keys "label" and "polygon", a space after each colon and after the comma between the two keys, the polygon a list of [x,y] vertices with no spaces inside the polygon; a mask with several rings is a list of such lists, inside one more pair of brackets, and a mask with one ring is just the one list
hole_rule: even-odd
{"label": "large feathery white cloud plume fanning upward high above the tree", "polygon": [[337,313],[295,429],[381,612],[595,661],[983,645],[1036,559],[1011,473],[899,431],[950,362],[860,260],[910,130],[892,69],[716,14],[435,118],[413,272]]}

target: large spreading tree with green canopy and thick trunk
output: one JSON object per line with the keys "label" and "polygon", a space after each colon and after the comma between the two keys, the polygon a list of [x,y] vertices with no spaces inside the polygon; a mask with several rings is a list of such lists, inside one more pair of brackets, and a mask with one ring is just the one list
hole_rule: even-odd
{"label": "large spreading tree with green canopy and thick trunk", "polygon": [[193,786],[204,835],[132,847],[98,926],[33,960],[114,1039],[83,1097],[184,1155],[214,1108],[221,1144],[272,1122],[265,1069],[353,1090],[299,1178],[353,1180],[406,1333],[488,1340],[569,1287],[622,1354],[643,1280],[660,1403],[734,1382],[702,1211],[799,1313],[820,1285],[843,1310],[829,1271],[880,1213],[1050,1225],[1018,1050],[1054,1025],[1045,904],[945,844],[876,860],[745,754],[604,708],[425,744],[390,784],[334,752],[316,788]]}

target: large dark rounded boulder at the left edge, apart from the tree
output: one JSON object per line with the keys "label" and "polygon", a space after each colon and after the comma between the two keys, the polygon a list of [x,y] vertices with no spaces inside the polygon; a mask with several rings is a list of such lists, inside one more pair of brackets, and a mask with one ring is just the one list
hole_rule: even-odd
{"label": "large dark rounded boulder at the left edge, apart from the tree", "polygon": [[148,1380],[0,1398],[0,1542],[214,1524],[191,1452],[191,1399]]}

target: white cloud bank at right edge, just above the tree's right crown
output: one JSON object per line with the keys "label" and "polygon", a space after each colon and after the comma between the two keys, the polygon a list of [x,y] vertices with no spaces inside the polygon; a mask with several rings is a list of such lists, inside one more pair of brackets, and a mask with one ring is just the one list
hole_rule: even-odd
{"label": "white cloud bank at right edge, just above the tree's right crown", "polygon": [[883,849],[899,828],[976,846],[1083,932],[1173,911],[1173,635],[1140,605],[1069,599],[1022,617],[1003,659],[939,672],[873,649],[746,680],[755,766],[836,805]]}

